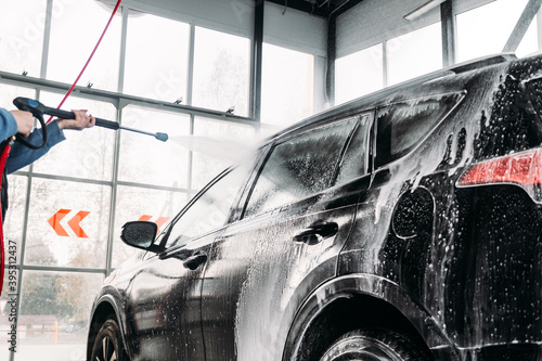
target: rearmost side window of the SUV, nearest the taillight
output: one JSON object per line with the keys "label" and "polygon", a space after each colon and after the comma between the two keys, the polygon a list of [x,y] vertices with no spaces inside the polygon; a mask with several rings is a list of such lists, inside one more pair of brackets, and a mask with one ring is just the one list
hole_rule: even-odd
{"label": "rearmost side window of the SUV, nearest the taillight", "polygon": [[439,94],[378,108],[375,168],[411,152],[463,98],[463,93]]}

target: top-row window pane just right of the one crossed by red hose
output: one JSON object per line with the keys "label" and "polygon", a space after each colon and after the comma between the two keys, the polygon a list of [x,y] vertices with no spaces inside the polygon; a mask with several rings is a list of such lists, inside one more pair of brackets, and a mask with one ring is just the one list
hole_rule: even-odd
{"label": "top-row window pane just right of the one crossed by red hose", "polygon": [[188,24],[130,11],[124,92],[167,102],[182,99],[189,34]]}

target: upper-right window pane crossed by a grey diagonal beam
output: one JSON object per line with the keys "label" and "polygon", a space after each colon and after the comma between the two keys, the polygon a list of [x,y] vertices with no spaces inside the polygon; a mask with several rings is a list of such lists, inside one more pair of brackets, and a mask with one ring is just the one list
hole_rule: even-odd
{"label": "upper-right window pane crossed by a grey diagonal beam", "polygon": [[[456,16],[457,60],[502,52],[528,0],[499,0]],[[537,51],[535,26],[529,28],[522,54]],[[527,47],[527,48],[526,48]]]}

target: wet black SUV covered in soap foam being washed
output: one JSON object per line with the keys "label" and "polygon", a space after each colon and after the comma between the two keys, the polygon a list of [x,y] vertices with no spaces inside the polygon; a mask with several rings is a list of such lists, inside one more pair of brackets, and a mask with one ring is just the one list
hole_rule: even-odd
{"label": "wet black SUV covered in soap foam being washed", "polygon": [[280,132],[124,227],[89,360],[542,360],[541,117],[501,54]]}

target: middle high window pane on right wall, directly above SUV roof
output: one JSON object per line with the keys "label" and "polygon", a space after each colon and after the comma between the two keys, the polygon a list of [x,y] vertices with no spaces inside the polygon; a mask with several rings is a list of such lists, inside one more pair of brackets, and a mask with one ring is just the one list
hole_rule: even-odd
{"label": "middle high window pane on right wall, directly above SUV roof", "polygon": [[386,42],[388,85],[442,67],[441,24],[436,23]]}

